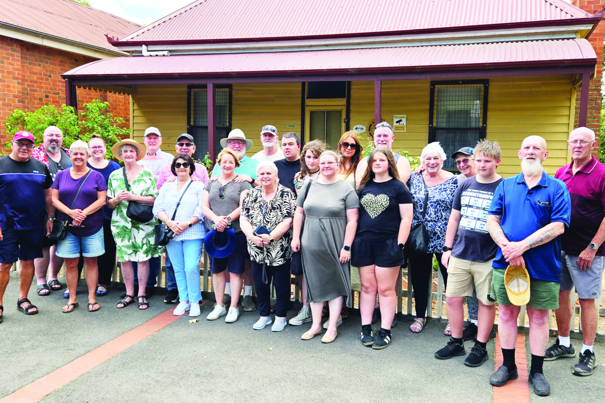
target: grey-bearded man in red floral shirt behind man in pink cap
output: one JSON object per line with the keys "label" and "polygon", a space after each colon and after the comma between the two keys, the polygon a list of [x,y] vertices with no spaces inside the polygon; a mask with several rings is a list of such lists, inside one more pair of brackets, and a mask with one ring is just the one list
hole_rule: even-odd
{"label": "grey-bearded man in red floral shirt behind man in pink cap", "polygon": [[[51,178],[57,176],[57,172],[64,170],[71,163],[70,152],[62,147],[63,132],[57,126],[48,126],[42,135],[42,144],[34,147],[31,157],[42,161],[47,166]],[[54,207],[51,207],[54,216]],[[52,221],[49,217],[48,221]],[[56,256],[57,241],[48,236],[42,238],[42,254],[34,260],[36,270],[36,282],[38,283],[38,295],[44,296],[50,294],[50,291],[59,291],[63,285],[57,280],[59,270],[63,265],[63,258]],[[46,274],[48,271],[48,284]],[[65,289],[67,292],[67,288]]]}

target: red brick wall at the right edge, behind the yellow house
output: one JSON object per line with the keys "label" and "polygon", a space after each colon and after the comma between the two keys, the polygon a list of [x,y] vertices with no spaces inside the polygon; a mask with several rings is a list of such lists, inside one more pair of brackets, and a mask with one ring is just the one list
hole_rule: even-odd
{"label": "red brick wall at the right edge, behind the yellow house", "polygon": [[[605,0],[572,0],[571,3],[576,7],[587,11],[590,14],[597,13],[605,7]],[[601,71],[603,70],[603,32],[605,28],[605,20],[601,21],[597,28],[592,31],[588,41],[597,53],[597,71],[595,78],[590,80],[590,88],[588,92],[588,115],[586,126],[592,129],[597,138],[601,132]],[[580,115],[580,89],[575,98],[575,121],[574,127],[578,127],[578,119]],[[599,139],[600,140],[600,139]],[[595,149],[594,155],[598,157],[598,149]]]}

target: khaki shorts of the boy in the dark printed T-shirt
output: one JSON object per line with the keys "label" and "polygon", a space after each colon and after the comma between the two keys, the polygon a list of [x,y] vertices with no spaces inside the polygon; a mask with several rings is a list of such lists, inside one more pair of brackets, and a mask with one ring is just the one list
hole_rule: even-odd
{"label": "khaki shorts of the boy in the dark printed T-shirt", "polygon": [[477,290],[477,299],[483,305],[494,305],[491,294],[492,262],[473,262],[450,256],[448,263],[448,286],[446,297],[472,297],[473,283]]}

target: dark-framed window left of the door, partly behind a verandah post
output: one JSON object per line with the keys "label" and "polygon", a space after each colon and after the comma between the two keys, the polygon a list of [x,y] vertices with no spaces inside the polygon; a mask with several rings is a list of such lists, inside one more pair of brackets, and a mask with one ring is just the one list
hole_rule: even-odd
{"label": "dark-framed window left of the door, partly behind a verandah post", "polygon": [[[214,92],[215,120],[217,126],[216,149],[221,138],[226,138],[231,131],[231,85],[216,85]],[[205,85],[188,87],[188,125],[187,131],[195,138],[196,160],[203,160],[208,152],[208,88]],[[212,155],[214,160],[216,155]]]}

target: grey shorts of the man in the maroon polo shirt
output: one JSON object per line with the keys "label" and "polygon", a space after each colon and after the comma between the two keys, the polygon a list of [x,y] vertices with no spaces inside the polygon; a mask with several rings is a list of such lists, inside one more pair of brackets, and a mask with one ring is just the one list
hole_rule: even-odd
{"label": "grey shorts of the man in the maroon polo shirt", "polygon": [[595,259],[592,260],[592,265],[586,271],[578,269],[577,260],[578,256],[561,252],[561,263],[563,263],[561,290],[571,291],[575,286],[575,292],[582,299],[600,298],[605,256],[595,256]]}

